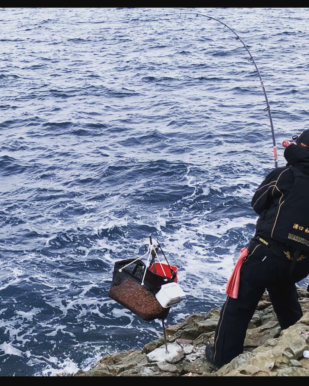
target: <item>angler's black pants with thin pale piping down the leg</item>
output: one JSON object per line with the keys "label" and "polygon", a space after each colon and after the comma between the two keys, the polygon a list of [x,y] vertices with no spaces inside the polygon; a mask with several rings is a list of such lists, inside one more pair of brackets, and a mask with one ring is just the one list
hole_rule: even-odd
{"label": "angler's black pants with thin pale piping down the leg", "polygon": [[240,271],[238,298],[228,296],[221,309],[214,340],[214,361],[218,367],[243,352],[248,324],[265,289],[282,329],[302,317],[295,283],[308,275],[309,256],[297,261],[292,275],[290,266],[289,259],[276,256],[260,241],[250,243]]}

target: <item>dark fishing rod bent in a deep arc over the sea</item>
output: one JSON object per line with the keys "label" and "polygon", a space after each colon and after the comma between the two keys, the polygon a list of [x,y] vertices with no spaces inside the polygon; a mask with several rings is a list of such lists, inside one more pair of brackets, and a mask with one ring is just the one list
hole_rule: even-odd
{"label": "dark fishing rod bent in a deep arc over the sea", "polygon": [[[177,14],[164,14],[164,15],[165,16],[175,16]],[[160,15],[158,17],[162,17],[164,15]],[[260,83],[261,83],[262,89],[263,89],[263,93],[264,93],[264,97],[265,97],[265,101],[266,101],[266,107],[264,108],[264,111],[268,112],[268,117],[269,117],[269,121],[270,121],[270,129],[272,131],[273,159],[274,159],[274,162],[275,162],[275,168],[278,168],[277,145],[276,145],[276,139],[275,139],[275,132],[274,132],[274,129],[273,129],[272,112],[270,111],[270,105],[268,103],[268,98],[267,98],[267,93],[266,93],[266,90],[265,90],[264,82],[262,80],[262,77],[261,77],[260,71],[258,69],[258,66],[256,65],[256,62],[255,62],[255,60],[254,60],[254,58],[253,58],[249,48],[244,43],[243,39],[241,39],[241,37],[231,27],[229,27],[226,23],[222,22],[221,20],[218,20],[218,19],[216,19],[216,18],[214,18],[212,16],[209,16],[209,15],[204,15],[204,14],[200,14],[200,13],[196,13],[196,12],[180,12],[180,15],[195,15],[196,17],[198,17],[198,16],[207,17],[208,20],[215,20],[216,22],[222,24],[224,26],[224,28],[226,27],[231,32],[233,32],[233,34],[236,36],[236,40],[241,41],[241,43],[243,44],[244,48],[246,49],[246,51],[250,55],[250,58],[248,59],[248,61],[252,62],[254,64],[256,72],[258,73],[258,77],[260,79]],[[158,18],[158,17],[156,17],[156,18]]]}

